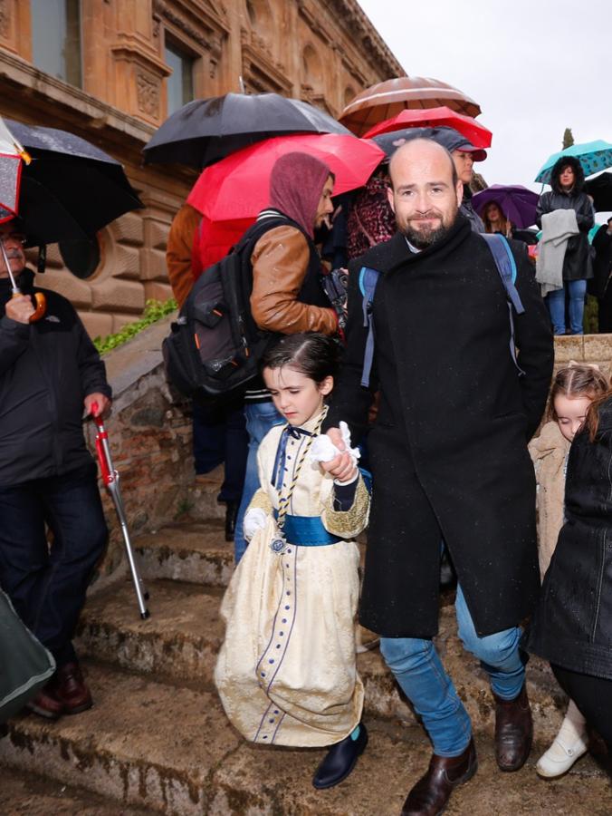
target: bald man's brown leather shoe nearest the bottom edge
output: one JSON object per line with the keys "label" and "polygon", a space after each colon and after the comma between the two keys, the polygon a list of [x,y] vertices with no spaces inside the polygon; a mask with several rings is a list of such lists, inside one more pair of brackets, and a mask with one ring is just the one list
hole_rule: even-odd
{"label": "bald man's brown leather shoe nearest the bottom edge", "polygon": [[451,793],[472,779],[478,769],[473,739],[459,756],[434,754],[425,776],[410,791],[402,808],[402,816],[438,816],[445,810]]}

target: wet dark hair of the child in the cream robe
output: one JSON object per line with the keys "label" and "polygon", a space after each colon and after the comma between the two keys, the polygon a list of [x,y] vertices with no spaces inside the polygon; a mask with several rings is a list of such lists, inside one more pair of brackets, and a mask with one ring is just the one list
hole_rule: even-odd
{"label": "wet dark hair of the child in the cream robe", "polygon": [[283,368],[285,365],[299,371],[315,383],[325,377],[339,374],[342,346],[327,335],[301,332],[285,335],[263,355],[262,369]]}

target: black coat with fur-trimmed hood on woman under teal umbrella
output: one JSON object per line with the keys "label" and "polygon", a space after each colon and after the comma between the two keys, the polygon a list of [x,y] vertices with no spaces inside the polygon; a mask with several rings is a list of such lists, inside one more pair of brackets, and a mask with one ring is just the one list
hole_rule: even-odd
{"label": "black coat with fur-trimmed hood on woman under teal umbrella", "polygon": [[[574,170],[574,186],[566,191],[559,183],[561,170],[564,167]],[[579,235],[569,238],[563,260],[563,280],[584,280],[593,277],[590,249],[588,247],[588,230],[595,223],[593,208],[584,192],[584,171],[578,159],[573,156],[561,156],[550,173],[552,189],[542,193],[536,209],[536,223],[542,226],[542,216],[555,209],[573,209],[578,221]]]}

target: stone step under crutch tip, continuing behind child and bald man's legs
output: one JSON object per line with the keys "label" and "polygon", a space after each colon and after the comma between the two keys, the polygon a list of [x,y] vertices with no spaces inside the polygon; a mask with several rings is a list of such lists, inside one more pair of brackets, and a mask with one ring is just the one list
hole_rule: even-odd
{"label": "stone step under crutch tip, continuing behind child and bald man's legs", "polygon": [[[145,621],[139,618],[128,580],[91,597],[81,615],[80,654],[212,689],[215,655],[224,636],[219,618],[223,590],[167,580],[150,581],[148,588],[151,617]],[[494,711],[487,678],[461,646],[452,605],[440,611],[437,647],[474,728],[492,733]],[[358,667],[366,686],[368,715],[415,722],[377,648],[360,654]],[[528,683],[536,730],[540,739],[551,741],[559,729],[564,697],[550,669],[540,660],[531,661]]]}

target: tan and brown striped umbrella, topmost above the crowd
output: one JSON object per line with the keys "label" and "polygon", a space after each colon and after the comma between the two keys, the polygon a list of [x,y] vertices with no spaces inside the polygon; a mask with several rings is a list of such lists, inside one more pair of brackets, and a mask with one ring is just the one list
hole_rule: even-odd
{"label": "tan and brown striped umbrella, topmost above the crowd", "polygon": [[445,105],[466,116],[478,116],[480,105],[452,85],[426,76],[399,76],[366,88],[346,106],[339,121],[362,136],[379,121],[391,119],[406,108]]}

